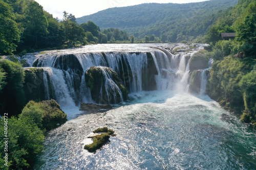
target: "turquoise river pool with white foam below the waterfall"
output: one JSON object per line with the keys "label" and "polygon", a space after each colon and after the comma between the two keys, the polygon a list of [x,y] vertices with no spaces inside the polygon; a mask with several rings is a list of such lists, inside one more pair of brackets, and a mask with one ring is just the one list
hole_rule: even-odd
{"label": "turquoise river pool with white foam below the waterfall", "polygon": [[[84,150],[104,126],[117,135],[96,153]],[[255,139],[250,125],[206,95],[141,92],[52,130],[34,169],[256,169]]]}

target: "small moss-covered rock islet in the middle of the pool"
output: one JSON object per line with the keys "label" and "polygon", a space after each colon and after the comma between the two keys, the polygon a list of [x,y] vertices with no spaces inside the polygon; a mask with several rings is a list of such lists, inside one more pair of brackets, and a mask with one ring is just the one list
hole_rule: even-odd
{"label": "small moss-covered rock islet in the middle of the pool", "polygon": [[108,129],[107,127],[98,128],[93,133],[105,132],[100,135],[91,136],[89,138],[93,139],[93,143],[84,145],[84,149],[89,152],[96,152],[96,150],[100,149],[102,145],[109,141],[110,136],[114,136],[114,131],[112,129]]}

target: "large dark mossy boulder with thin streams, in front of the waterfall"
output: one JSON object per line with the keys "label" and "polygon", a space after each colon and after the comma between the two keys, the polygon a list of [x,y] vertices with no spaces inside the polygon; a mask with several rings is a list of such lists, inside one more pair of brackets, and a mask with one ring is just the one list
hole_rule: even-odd
{"label": "large dark mossy boulder with thin streams, in front of the waterfall", "polygon": [[[127,100],[129,91],[117,73],[109,67],[90,67],[85,73],[86,85],[91,90],[92,99],[99,104],[116,104]],[[108,82],[107,82],[108,81]],[[116,86],[108,87],[109,84]],[[121,91],[121,94],[119,93]]]}

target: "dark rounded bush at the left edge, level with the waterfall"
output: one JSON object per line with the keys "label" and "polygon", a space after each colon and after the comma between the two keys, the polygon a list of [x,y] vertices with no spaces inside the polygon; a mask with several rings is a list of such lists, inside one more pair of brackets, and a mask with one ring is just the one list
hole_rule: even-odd
{"label": "dark rounded bush at the left edge, level with the waterfall", "polygon": [[[0,69],[5,72],[5,81],[0,92],[0,113],[17,115],[24,106],[25,96],[23,91],[24,69],[19,63],[9,60],[0,60]],[[2,84],[3,84],[2,79]]]}

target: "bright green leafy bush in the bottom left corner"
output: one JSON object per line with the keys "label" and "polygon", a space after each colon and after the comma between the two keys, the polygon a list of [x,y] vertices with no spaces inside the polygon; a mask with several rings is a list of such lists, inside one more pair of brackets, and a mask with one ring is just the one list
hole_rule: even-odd
{"label": "bright green leafy bush in the bottom left corner", "polygon": [[[0,155],[4,155],[4,120],[0,120]],[[29,118],[8,119],[8,162],[9,169],[29,169],[35,156],[43,149],[44,135]],[[2,157],[1,156],[1,157]],[[4,165],[3,159],[0,164]]]}

